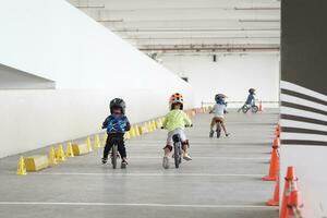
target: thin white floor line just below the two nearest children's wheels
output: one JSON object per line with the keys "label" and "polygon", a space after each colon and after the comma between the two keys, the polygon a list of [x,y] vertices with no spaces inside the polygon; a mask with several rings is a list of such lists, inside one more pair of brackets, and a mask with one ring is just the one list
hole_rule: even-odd
{"label": "thin white floor line just below the two nearest children's wheels", "polygon": [[123,175],[123,177],[247,177],[261,178],[264,174],[218,174],[218,173],[111,173],[111,172],[35,172],[35,175]]}

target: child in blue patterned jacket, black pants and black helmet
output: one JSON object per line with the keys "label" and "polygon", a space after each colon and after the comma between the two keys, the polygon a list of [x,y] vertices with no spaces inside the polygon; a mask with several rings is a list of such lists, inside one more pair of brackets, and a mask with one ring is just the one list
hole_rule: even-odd
{"label": "child in blue patterned jacket, black pants and black helmet", "polygon": [[113,144],[117,143],[118,152],[122,158],[121,168],[125,168],[126,149],[124,144],[124,133],[131,129],[129,119],[125,116],[125,102],[121,98],[110,101],[110,116],[106,118],[102,129],[107,129],[107,142],[104,150],[102,164],[107,164],[108,155]]}

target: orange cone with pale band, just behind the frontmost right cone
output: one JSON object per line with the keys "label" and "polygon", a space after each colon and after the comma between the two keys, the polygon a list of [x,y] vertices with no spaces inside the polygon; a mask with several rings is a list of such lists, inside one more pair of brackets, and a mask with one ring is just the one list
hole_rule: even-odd
{"label": "orange cone with pale band, just behind the frontmost right cone", "polygon": [[283,194],[282,194],[281,208],[280,208],[280,218],[286,218],[289,196],[292,191],[298,190],[296,181],[298,178],[295,175],[295,168],[292,166],[288,167],[287,175],[284,178]]}

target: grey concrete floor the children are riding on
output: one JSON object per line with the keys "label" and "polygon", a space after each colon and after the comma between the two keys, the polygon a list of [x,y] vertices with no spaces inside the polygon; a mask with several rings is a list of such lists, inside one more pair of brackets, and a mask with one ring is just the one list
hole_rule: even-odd
{"label": "grey concrete floor the children are riding on", "polygon": [[[164,170],[166,131],[128,141],[128,169],[100,164],[101,149],[64,164],[15,175],[17,156],[0,159],[0,217],[277,218],[266,207],[274,182],[269,150],[278,114],[227,114],[230,137],[208,138],[210,116],[187,129],[193,160]],[[31,154],[47,154],[38,149]]]}

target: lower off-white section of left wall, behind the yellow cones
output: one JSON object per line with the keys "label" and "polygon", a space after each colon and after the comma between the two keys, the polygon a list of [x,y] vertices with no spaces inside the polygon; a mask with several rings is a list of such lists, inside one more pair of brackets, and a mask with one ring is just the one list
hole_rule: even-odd
{"label": "lower off-white section of left wall, behind the yellow cones", "polygon": [[[161,88],[161,89],[160,89]],[[73,140],[101,131],[109,113],[109,100],[122,97],[132,123],[165,114],[168,111],[164,89],[61,89],[0,90],[0,157],[23,153],[53,143]],[[186,107],[192,94],[184,89]]]}

